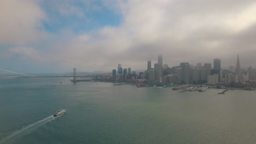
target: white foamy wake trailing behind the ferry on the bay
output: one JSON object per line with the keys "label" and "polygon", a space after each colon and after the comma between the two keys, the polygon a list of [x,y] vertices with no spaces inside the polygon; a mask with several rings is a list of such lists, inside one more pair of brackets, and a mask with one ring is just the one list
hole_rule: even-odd
{"label": "white foamy wake trailing behind the ferry on the bay", "polygon": [[45,123],[48,123],[50,121],[53,121],[55,119],[54,116],[49,116],[49,117],[46,117],[40,121],[37,121],[35,123],[32,123],[30,125],[27,125],[26,127],[18,130],[18,131],[15,131],[13,134],[7,136],[7,137],[4,137],[4,139],[2,139],[0,141],[0,144],[3,144],[3,143],[12,143],[16,140],[19,140],[21,139],[23,136],[29,134],[31,131],[34,131],[36,130],[37,128],[41,127],[42,125],[44,125]]}

